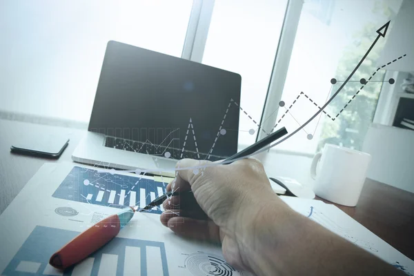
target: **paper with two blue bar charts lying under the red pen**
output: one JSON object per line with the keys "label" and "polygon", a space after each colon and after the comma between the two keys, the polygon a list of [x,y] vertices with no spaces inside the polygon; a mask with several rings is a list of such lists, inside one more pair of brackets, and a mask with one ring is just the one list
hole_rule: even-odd
{"label": "paper with two blue bar charts lying under the red pen", "polygon": [[44,164],[0,215],[0,275],[250,275],[230,266],[219,246],[174,235],[161,225],[159,208],[135,213],[117,237],[83,262],[65,271],[48,265],[52,253],[83,230],[123,206],[148,204],[169,181]]}

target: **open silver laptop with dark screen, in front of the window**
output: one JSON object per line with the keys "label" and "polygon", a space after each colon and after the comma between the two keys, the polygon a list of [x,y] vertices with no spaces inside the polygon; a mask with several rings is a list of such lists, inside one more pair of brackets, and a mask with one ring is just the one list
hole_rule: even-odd
{"label": "open silver laptop with dark screen, in front of the window", "polygon": [[241,82],[234,72],[109,41],[88,132],[72,159],[156,173],[183,158],[229,157]]}

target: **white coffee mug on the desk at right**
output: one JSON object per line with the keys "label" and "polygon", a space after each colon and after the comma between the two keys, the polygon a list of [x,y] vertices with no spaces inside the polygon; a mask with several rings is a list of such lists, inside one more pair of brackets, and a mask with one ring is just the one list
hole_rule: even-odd
{"label": "white coffee mug on the desk at right", "polygon": [[325,144],[322,152],[313,157],[313,191],[318,197],[333,203],[356,206],[370,161],[371,155],[366,152]]}

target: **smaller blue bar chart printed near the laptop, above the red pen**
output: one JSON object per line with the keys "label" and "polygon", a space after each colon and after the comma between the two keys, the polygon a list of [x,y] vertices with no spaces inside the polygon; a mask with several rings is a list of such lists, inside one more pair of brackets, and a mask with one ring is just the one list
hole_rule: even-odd
{"label": "smaller blue bar chart printed near the laptop, above the red pen", "polygon": [[[117,175],[75,166],[52,197],[115,208],[146,206],[151,197],[166,192],[164,185],[139,175]],[[162,210],[152,208],[148,213],[161,214]]]}

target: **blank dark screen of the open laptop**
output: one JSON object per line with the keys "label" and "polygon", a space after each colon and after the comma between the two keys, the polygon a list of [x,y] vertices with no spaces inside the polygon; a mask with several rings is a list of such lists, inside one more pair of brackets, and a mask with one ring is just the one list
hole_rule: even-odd
{"label": "blank dark screen of the open laptop", "polygon": [[240,89],[233,72],[110,41],[88,130],[228,157],[237,152]]}

